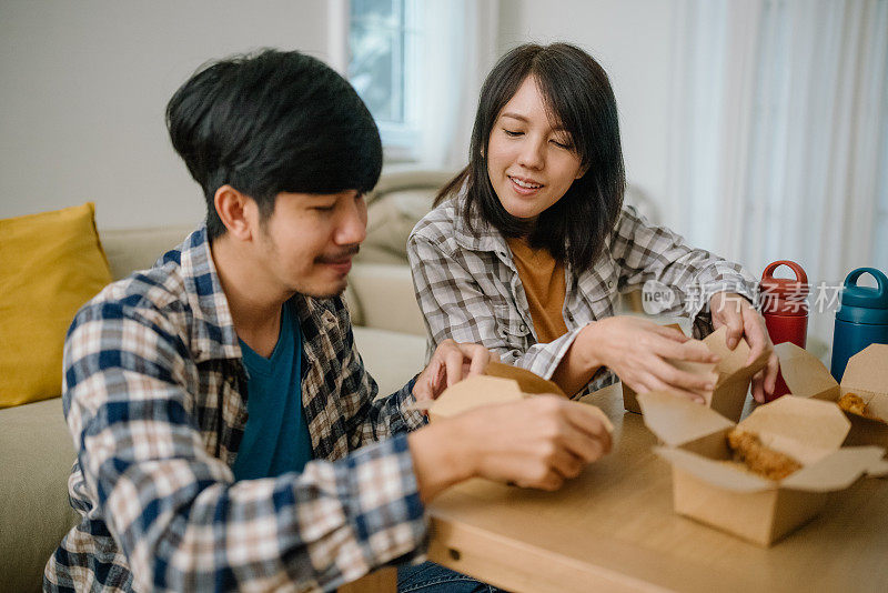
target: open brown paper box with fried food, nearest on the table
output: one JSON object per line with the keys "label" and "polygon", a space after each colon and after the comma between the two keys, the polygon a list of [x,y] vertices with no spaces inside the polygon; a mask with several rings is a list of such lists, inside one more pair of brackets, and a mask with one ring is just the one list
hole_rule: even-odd
{"label": "open brown paper box with fried food, nearest on the table", "polygon": [[850,423],[828,402],[784,395],[736,424],[803,465],[774,481],[729,462],[734,422],[668,393],[643,393],[638,401],[663,443],[654,451],[672,464],[675,511],[763,546],[817,515],[830,492],[865,473],[888,473],[881,448],[841,448]]}

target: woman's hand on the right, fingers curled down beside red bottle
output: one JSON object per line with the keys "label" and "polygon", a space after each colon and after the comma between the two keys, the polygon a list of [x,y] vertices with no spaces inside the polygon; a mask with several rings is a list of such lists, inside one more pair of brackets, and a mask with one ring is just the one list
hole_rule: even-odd
{"label": "woman's hand on the right, fingers curled down beside red bottle", "polygon": [[768,365],[753,376],[753,398],[758,403],[765,403],[765,393],[774,393],[780,361],[774,352],[774,344],[765,326],[764,318],[756,311],[749,301],[733,292],[718,292],[709,299],[709,311],[713,314],[713,325],[717,330],[727,325],[727,346],[734,350],[741,338],[749,342],[750,364],[763,352],[769,352]]}

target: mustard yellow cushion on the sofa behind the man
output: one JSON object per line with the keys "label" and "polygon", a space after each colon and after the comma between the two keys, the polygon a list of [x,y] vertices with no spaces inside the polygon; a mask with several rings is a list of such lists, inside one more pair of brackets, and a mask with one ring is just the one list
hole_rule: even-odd
{"label": "mustard yellow cushion on the sofa behind the man", "polygon": [[0,408],[61,394],[64,334],[111,282],[95,205],[0,220]]}

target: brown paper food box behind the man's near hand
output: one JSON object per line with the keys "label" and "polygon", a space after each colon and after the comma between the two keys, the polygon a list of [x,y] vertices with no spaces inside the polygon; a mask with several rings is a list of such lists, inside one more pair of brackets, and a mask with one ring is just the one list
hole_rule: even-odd
{"label": "brown paper food box behind the man's near hand", "polygon": [[[536,373],[518,366],[492,362],[487,365],[485,374],[460,381],[444,390],[437,400],[430,402],[428,420],[435,422],[481,405],[517,402],[543,393],[567,398],[556,383],[547,381]],[[598,411],[608,432],[613,432],[613,424],[605,413],[594,405],[592,408]]]}

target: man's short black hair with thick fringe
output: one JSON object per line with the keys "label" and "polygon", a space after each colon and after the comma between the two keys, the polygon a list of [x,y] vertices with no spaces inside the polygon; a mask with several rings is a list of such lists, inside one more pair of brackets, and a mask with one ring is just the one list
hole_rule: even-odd
{"label": "man's short black hair with thick fringe", "polygon": [[210,240],[225,232],[213,203],[230,184],[259,204],[280,192],[369,192],[382,143],[354,89],[320,60],[262,50],[204,64],[167,105],[175,151],[206,199]]}

